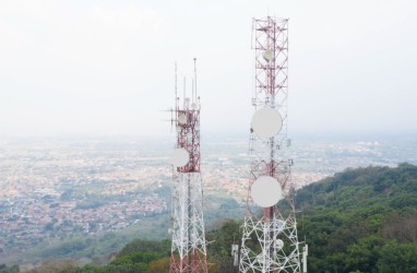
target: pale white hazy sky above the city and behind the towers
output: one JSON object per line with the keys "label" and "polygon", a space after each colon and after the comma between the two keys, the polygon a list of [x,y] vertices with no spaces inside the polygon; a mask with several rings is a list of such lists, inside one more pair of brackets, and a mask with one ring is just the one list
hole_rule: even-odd
{"label": "pale white hazy sky above the city and behind the towers", "polygon": [[169,134],[193,57],[203,132],[247,133],[267,14],[289,17],[289,133],[417,133],[414,0],[0,0],[0,135]]}

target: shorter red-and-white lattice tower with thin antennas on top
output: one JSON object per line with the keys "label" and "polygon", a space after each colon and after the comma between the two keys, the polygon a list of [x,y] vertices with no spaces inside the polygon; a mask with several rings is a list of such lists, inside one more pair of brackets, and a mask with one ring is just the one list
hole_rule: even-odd
{"label": "shorter red-and-white lattice tower with thin antennas on top", "polygon": [[200,174],[200,97],[196,93],[196,68],[192,80],[192,96],[180,102],[177,92],[172,109],[172,126],[177,142],[171,155],[172,175],[172,235],[170,273],[206,273],[206,248],[203,219],[203,189]]}

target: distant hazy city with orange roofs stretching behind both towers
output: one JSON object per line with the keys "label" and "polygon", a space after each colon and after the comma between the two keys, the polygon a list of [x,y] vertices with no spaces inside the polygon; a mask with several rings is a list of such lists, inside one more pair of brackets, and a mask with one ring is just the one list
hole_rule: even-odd
{"label": "distant hazy city with orange roofs stretching behind both towers", "polygon": [[[202,145],[204,194],[243,205],[249,139]],[[169,212],[172,146],[174,138],[0,139],[0,261],[47,239],[117,232]],[[301,188],[348,167],[417,164],[416,151],[405,136],[296,140],[293,181]]]}

